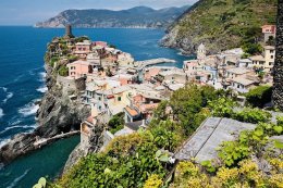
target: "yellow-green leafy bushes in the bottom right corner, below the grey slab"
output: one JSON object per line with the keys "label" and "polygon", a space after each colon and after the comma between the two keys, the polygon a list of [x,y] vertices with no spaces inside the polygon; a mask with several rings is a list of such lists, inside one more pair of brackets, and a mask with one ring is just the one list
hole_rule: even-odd
{"label": "yellow-green leafy bushes in the bottom right corner, below the grey slab", "polygon": [[[283,133],[283,117],[278,120],[278,125],[259,123],[255,130],[242,131],[237,140],[223,142],[218,162],[204,161],[201,166],[194,161],[181,162],[171,188],[281,188],[283,143],[268,139]],[[262,161],[268,163],[270,173],[262,172]]]}

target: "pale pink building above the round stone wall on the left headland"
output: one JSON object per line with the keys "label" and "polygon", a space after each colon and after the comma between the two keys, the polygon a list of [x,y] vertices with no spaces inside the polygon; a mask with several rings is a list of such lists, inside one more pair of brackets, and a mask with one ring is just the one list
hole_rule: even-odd
{"label": "pale pink building above the round stone wall on the left headland", "polygon": [[69,76],[75,79],[93,73],[93,65],[87,61],[75,61],[66,66],[69,68]]}

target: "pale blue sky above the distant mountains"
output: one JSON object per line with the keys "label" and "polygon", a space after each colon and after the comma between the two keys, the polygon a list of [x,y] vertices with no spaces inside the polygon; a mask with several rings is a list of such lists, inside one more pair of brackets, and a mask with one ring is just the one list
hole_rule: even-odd
{"label": "pale blue sky above the distant mountains", "polygon": [[153,9],[194,4],[197,0],[0,0],[0,25],[34,25],[67,9],[123,10],[137,5]]}

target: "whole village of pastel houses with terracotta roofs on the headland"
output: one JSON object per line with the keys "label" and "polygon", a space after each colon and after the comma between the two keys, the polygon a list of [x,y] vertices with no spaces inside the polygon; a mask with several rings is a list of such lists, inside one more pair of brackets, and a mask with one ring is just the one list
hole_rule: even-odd
{"label": "whole village of pastel houses with terracotta roofs on the headland", "polygon": [[[262,26],[262,42],[268,42],[274,34],[273,25]],[[272,86],[275,50],[269,45],[263,45],[262,54],[243,58],[245,52],[241,48],[208,55],[206,46],[200,43],[196,60],[184,61],[183,68],[176,68],[157,65],[174,62],[165,59],[136,62],[130,53],[104,41],[83,38],[75,42],[70,37],[71,26],[66,27],[65,36],[72,62],[63,66],[67,68],[63,74],[59,70],[57,82],[71,100],[79,100],[91,108],[91,115],[81,125],[81,143],[86,150],[98,121],[108,124],[113,116],[123,115],[124,127],[112,133],[104,130],[107,146],[116,136],[146,128],[159,103],[187,83],[232,90],[242,103],[245,102],[244,95],[251,88]],[[59,42],[54,39],[51,46],[58,47]],[[53,55],[57,53],[62,53],[62,50],[54,49]]]}

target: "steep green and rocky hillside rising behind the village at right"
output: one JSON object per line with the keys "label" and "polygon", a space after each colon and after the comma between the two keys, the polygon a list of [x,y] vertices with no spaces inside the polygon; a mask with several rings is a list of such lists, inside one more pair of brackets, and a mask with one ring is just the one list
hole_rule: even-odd
{"label": "steep green and rocky hillside rising behind the village at right", "polygon": [[204,42],[216,53],[258,40],[275,14],[276,0],[200,0],[170,26],[162,45],[195,53]]}

